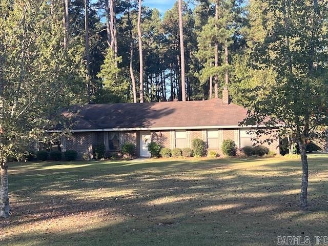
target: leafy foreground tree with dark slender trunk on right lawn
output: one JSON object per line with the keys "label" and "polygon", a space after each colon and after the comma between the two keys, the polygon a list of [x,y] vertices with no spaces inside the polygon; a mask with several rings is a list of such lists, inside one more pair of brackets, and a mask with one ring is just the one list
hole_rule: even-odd
{"label": "leafy foreground tree with dark slender trunk on right lawn", "polygon": [[242,104],[250,109],[243,123],[264,125],[259,135],[280,126],[280,136],[298,144],[301,211],[308,210],[306,146],[328,124],[327,14],[322,1],[250,1],[249,60],[237,74]]}

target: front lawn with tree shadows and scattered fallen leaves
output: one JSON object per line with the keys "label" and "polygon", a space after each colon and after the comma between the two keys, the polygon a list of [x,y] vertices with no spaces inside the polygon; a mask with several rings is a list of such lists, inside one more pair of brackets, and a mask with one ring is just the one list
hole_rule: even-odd
{"label": "front lawn with tree shadows and scattered fallen leaves", "polygon": [[10,165],[1,245],[276,245],[327,236],[328,155],[299,160],[175,159]]}

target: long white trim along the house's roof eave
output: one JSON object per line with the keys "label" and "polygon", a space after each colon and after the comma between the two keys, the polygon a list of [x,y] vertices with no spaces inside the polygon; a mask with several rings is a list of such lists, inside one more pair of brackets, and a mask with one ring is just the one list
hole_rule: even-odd
{"label": "long white trim along the house's roof eave", "polygon": [[[279,127],[282,125],[276,125],[275,127]],[[267,127],[265,125],[248,125],[248,126],[238,126],[238,125],[231,125],[231,126],[197,126],[197,127],[131,127],[131,128],[99,128],[99,129],[76,129],[71,130],[71,132],[106,132],[106,131],[156,131],[156,130],[195,130],[195,129],[231,129],[231,128],[262,128]],[[61,130],[48,130],[46,132],[62,132]]]}

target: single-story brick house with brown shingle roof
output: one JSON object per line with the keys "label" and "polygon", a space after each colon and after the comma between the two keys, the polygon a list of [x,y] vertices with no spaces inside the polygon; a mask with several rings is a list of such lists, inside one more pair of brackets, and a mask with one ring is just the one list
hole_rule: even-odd
{"label": "single-story brick house with brown shingle roof", "polygon": [[[106,151],[120,154],[121,145],[132,142],[137,157],[150,157],[147,145],[155,141],[162,147],[192,147],[192,140],[200,138],[209,150],[221,154],[224,139],[232,139],[241,148],[251,146],[254,127],[239,126],[247,116],[247,109],[220,98],[202,101],[167,101],[160,103],[89,104],[77,106],[72,134],[62,137],[60,150],[74,150],[78,158],[93,158],[93,146],[103,143]],[[67,112],[67,114],[70,114]],[[65,113],[64,113],[65,115]],[[263,144],[279,153],[279,140]],[[268,138],[264,136],[263,138]]]}

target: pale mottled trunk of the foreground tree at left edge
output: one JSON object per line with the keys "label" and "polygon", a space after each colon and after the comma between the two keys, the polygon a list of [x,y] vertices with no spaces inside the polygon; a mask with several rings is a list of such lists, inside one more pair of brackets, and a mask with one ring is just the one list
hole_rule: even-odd
{"label": "pale mottled trunk of the foreground tree at left edge", "polygon": [[0,217],[9,217],[8,164],[5,158],[0,162]]}

